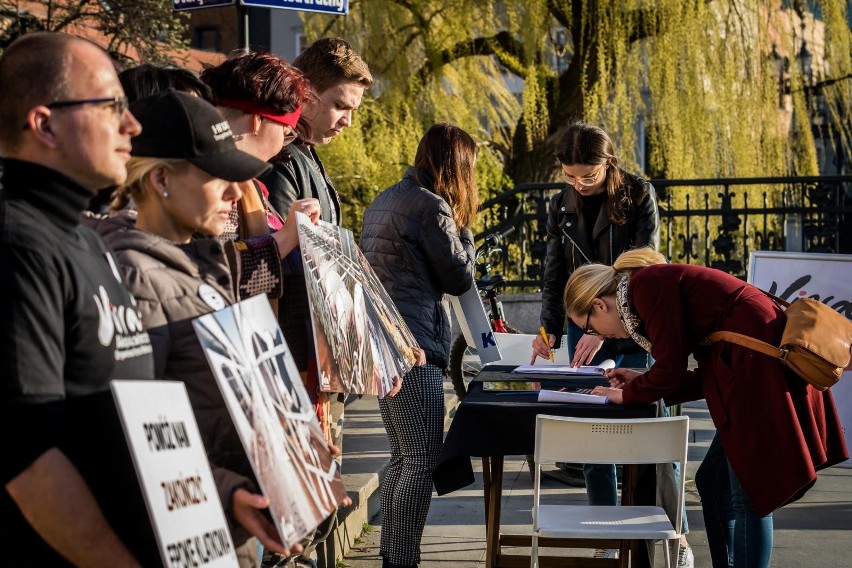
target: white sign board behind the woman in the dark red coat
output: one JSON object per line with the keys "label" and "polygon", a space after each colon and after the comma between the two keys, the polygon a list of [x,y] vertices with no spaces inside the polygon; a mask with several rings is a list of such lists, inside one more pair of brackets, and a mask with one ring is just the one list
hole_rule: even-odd
{"label": "white sign board behind the woman in the dark red coat", "polygon": [[[748,281],[792,302],[813,298],[852,319],[852,255],[753,251],[749,255]],[[852,447],[852,372],[843,373],[831,387],[837,414]],[[841,464],[852,467],[852,459]]]}

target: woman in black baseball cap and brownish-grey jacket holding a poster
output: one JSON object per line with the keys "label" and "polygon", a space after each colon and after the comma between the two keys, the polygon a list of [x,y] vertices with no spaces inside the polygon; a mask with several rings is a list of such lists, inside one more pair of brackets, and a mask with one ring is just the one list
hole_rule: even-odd
{"label": "woman in black baseball cap and brownish-grey jacket holding a poster", "polygon": [[[154,349],[155,376],[186,384],[240,565],[256,566],[257,547],[250,535],[267,548],[289,551],[261,512],[266,498],[256,493],[251,465],[192,319],[247,297],[237,285],[237,272],[244,267],[236,246],[218,237],[242,196],[240,183],[269,165],[238,150],[228,121],[198,97],[169,90],[139,99],[130,110],[142,134],[133,140],[127,181],[118,188],[115,205],[120,208],[132,198],[138,216],[135,224],[127,216],[112,217],[97,230],[115,251],[138,301]],[[296,210],[319,219],[316,200],[294,207],[276,235],[281,255],[298,244],[296,220],[290,218]],[[272,238],[267,234],[240,246],[268,246]]]}

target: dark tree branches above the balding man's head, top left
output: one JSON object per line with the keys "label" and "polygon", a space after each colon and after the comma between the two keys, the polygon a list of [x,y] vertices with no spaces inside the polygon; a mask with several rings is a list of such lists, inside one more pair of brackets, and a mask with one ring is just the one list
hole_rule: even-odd
{"label": "dark tree branches above the balding man's head, top left", "polygon": [[119,59],[166,62],[187,47],[187,19],[169,0],[0,0],[0,51],[23,33],[55,31],[105,44]]}

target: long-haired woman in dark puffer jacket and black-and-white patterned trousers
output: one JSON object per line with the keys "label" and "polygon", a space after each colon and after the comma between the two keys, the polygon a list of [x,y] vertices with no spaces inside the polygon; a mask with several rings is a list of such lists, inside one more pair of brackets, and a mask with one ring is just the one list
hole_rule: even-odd
{"label": "long-haired woman in dark puffer jacket and black-and-white patterned trousers", "polygon": [[479,202],[475,164],[473,138],[436,124],[420,141],[414,167],[364,213],[361,249],[426,352],[426,364],[405,375],[399,394],[379,400],[391,446],[381,499],[385,567],[420,562],[443,439],[443,370],[450,350],[444,295],[473,285],[468,226]]}

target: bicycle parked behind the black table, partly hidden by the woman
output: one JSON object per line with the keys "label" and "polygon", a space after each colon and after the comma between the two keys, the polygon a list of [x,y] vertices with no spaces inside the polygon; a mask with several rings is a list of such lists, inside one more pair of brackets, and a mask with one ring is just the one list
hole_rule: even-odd
{"label": "bicycle parked behind the black table, partly hidden by the woman", "polygon": [[[476,280],[476,287],[486,306],[491,329],[497,333],[521,333],[520,330],[506,323],[503,303],[498,298],[497,289],[504,286],[507,280],[502,274],[491,274],[490,261],[495,254],[502,254],[503,249],[500,248],[500,244],[514,231],[514,227],[508,227],[491,233],[476,249],[476,272],[481,275]],[[464,335],[460,335],[450,347],[450,380],[459,400],[463,400],[467,395],[467,385],[480,370],[482,370],[482,363],[476,354],[476,349],[468,346]]]}

